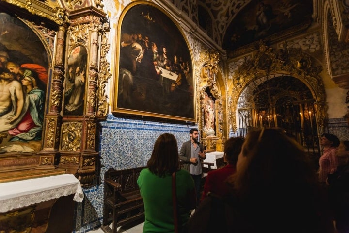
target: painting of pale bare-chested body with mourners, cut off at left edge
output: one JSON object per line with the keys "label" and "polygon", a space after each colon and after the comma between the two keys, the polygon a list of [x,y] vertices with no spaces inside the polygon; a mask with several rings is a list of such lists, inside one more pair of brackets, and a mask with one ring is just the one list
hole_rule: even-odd
{"label": "painting of pale bare-chested body with mourners, cut off at left edge", "polygon": [[47,52],[22,21],[0,13],[0,153],[40,150]]}

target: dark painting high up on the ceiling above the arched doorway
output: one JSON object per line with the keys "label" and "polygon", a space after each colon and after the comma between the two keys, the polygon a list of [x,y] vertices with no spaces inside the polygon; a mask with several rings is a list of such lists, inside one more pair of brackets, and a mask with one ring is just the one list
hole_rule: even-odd
{"label": "dark painting high up on the ceiling above the arched doorway", "polygon": [[252,0],[231,21],[224,35],[222,48],[236,50],[309,22],[312,14],[312,0]]}

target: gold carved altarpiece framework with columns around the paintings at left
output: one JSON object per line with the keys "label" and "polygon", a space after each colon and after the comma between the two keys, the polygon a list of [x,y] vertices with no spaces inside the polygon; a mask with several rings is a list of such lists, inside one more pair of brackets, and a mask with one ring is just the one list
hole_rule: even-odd
{"label": "gold carved altarpiece framework with columns around the paintings at left", "polygon": [[[47,48],[49,63],[41,150],[0,155],[0,182],[70,173],[82,186],[96,183],[99,121],[108,113],[105,87],[111,77],[106,54],[109,22],[99,1],[4,0],[3,9],[21,19]],[[64,113],[69,55],[86,51],[84,97],[79,114]]]}

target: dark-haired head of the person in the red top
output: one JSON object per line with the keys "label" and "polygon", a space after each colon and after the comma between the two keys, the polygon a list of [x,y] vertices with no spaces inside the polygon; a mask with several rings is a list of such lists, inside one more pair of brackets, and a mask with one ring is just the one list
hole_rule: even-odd
{"label": "dark-haired head of the person in the red top", "polygon": [[231,137],[224,143],[224,161],[228,164],[236,164],[238,161],[238,155],[240,154],[241,147],[245,138],[243,137]]}

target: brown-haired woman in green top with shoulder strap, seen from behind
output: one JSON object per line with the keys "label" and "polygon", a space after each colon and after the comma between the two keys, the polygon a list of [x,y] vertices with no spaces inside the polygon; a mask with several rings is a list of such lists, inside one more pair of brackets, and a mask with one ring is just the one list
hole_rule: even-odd
{"label": "brown-haired woman in green top with shoulder strap, seen from behind", "polygon": [[196,207],[194,181],[186,170],[179,170],[177,141],[163,133],[155,141],[152,155],[137,180],[144,202],[143,233],[174,232],[172,173],[176,175],[178,229],[187,223]]}

